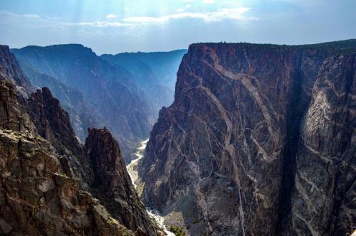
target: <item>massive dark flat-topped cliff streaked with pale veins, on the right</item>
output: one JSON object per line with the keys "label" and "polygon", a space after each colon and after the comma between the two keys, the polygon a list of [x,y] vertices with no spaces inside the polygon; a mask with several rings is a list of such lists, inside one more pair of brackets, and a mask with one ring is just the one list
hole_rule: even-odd
{"label": "massive dark flat-topped cliff streaked with pale veins, on the right", "polygon": [[139,166],[145,203],[189,202],[209,235],[352,232],[355,57],[356,41],[191,45]]}

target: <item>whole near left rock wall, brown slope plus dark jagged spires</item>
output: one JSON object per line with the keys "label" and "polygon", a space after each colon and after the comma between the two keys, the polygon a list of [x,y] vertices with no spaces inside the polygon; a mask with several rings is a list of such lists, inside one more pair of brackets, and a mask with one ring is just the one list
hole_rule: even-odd
{"label": "whole near left rock wall, brown slope plus dark jagged spires", "polygon": [[108,130],[82,146],[47,88],[26,100],[14,81],[0,80],[0,235],[157,235]]}

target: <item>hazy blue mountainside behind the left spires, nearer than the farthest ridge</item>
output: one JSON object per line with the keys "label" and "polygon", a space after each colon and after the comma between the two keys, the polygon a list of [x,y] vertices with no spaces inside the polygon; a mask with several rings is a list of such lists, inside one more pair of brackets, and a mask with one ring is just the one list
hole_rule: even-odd
{"label": "hazy blue mountainside behind the left spires, nearer than the farthest ridge", "polygon": [[[157,114],[127,70],[108,63],[95,55],[90,48],[78,44],[28,46],[13,49],[12,52],[34,85],[51,87],[63,104],[71,104],[68,107],[73,108],[73,111],[69,109],[68,112],[71,117],[78,119],[77,123],[93,121],[93,124],[107,126],[119,141],[125,160],[130,161],[129,154],[138,141],[147,138]],[[38,78],[41,76],[38,73],[48,75],[48,82],[43,80],[43,75],[39,82]],[[77,97],[64,96],[63,91],[59,91],[63,87],[53,86],[54,80],[49,79],[50,77],[70,90],[79,91],[84,97],[82,109],[78,109],[78,105],[82,104],[74,105],[78,102]],[[80,97],[79,94],[78,96]],[[83,111],[84,108],[87,109],[86,112]],[[80,117],[82,114],[84,117]],[[72,121],[72,124],[75,122]],[[75,130],[79,132],[79,137],[86,134],[80,129]]]}

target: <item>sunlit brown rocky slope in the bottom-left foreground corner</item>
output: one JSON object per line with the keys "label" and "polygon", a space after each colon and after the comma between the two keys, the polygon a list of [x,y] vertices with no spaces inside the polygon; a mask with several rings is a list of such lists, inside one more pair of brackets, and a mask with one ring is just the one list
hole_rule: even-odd
{"label": "sunlit brown rocky slope in the bottom-left foreground corner", "polygon": [[1,235],[135,235],[60,171],[31,133],[0,129]]}

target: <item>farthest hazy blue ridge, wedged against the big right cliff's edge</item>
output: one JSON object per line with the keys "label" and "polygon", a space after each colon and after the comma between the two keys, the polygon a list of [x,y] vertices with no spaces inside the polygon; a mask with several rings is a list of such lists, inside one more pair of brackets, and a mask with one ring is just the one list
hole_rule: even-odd
{"label": "farthest hazy blue ridge, wedged against the big right cliff's edge", "polygon": [[104,54],[100,58],[125,68],[153,104],[155,113],[172,104],[177,71],[187,50],[154,53]]}

